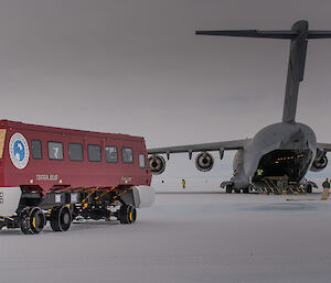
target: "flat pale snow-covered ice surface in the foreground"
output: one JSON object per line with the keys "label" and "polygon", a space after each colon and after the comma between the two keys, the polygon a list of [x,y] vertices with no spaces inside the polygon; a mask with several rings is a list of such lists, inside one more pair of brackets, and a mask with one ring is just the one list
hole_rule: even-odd
{"label": "flat pale snow-covered ice surface in the foreground", "polygon": [[330,282],[331,200],[158,194],[131,226],[0,231],[0,282]]}

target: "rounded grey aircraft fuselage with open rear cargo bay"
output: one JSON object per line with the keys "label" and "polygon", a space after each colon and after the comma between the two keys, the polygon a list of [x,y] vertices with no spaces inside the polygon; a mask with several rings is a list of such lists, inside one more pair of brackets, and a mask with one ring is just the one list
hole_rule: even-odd
{"label": "rounded grey aircraft fuselage with open rear cargo bay", "polygon": [[317,139],[310,127],[297,122],[274,123],[237,151],[232,182],[238,189],[264,176],[287,176],[303,182],[316,154]]}

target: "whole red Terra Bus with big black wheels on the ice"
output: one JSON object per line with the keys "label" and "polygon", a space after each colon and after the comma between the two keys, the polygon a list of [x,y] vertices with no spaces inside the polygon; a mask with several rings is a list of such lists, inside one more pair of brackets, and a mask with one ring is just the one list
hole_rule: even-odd
{"label": "whole red Terra Bus with big black wheels on the ice", "polygon": [[0,120],[0,229],[75,218],[135,222],[154,191],[143,138]]}

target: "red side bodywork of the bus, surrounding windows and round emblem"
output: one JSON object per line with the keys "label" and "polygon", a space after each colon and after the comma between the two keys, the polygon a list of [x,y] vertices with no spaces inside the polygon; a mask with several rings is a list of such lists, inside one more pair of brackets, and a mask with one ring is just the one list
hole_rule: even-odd
{"label": "red side bodywork of the bus, surrounding windows and round emblem", "polygon": [[[20,132],[28,141],[30,156],[24,168],[18,168],[9,156],[9,141],[12,134]],[[42,159],[34,160],[31,154],[31,141],[42,142]],[[62,142],[63,160],[50,160],[47,142]],[[84,161],[70,161],[68,143],[82,143]],[[97,144],[102,148],[102,162],[89,162],[87,144]],[[116,145],[118,163],[105,161],[105,145]],[[121,162],[121,146],[132,148],[134,163]],[[72,187],[106,187],[118,185],[150,185],[151,174],[147,168],[139,167],[139,153],[146,152],[143,140],[106,140],[89,134],[61,134],[58,132],[33,131],[30,129],[12,129],[8,132],[3,153],[6,155],[6,178],[3,186],[40,185],[44,191],[54,185],[71,185]],[[1,165],[0,165],[1,166]]]}

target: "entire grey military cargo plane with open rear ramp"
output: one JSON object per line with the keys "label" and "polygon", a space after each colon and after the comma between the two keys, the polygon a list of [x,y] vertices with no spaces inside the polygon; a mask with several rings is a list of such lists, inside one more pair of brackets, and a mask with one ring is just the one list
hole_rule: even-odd
{"label": "entire grey military cargo plane with open rear ramp", "polygon": [[186,152],[191,160],[193,152],[200,152],[195,165],[207,172],[214,165],[209,152],[218,151],[222,160],[224,151],[232,150],[236,151],[233,177],[221,185],[226,193],[248,193],[254,185],[273,177],[306,185],[308,170],[318,172],[327,166],[331,144],[318,143],[310,127],[296,122],[299,84],[303,80],[308,40],[331,39],[331,31],[308,30],[308,21],[301,20],[289,31],[196,31],[195,34],[290,40],[282,121],[265,127],[253,139],[149,149],[152,173],[161,174],[166,168],[166,160],[160,154],[167,154],[169,160],[171,153]]}

